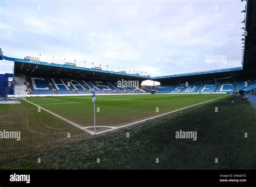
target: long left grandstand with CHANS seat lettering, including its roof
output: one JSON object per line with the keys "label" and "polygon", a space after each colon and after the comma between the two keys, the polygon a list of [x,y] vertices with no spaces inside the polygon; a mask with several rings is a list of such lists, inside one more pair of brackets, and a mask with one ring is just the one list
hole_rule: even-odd
{"label": "long left grandstand with CHANS seat lettering, including its roof", "polygon": [[[16,59],[4,56],[0,49],[1,59],[14,61],[14,82],[11,87],[2,79],[1,94],[6,97],[20,96],[69,96],[96,94],[132,94],[147,93],[140,89],[149,76],[124,74],[95,68],[69,66],[28,59]],[[138,87],[118,85],[119,80],[138,81]],[[3,90],[7,90],[6,92]],[[14,90],[14,91],[13,91]]]}

